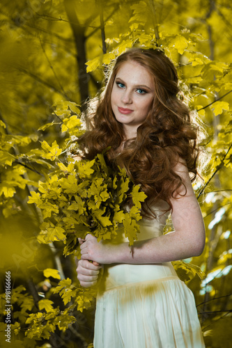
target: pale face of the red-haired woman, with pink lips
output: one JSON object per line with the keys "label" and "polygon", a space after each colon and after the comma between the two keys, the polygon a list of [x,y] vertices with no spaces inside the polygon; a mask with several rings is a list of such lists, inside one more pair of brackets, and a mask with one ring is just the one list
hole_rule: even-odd
{"label": "pale face of the red-haired woman, with pink lips", "polygon": [[154,98],[154,82],[150,72],[134,61],[119,68],[111,92],[111,107],[121,122],[127,139],[137,134],[144,122]]}

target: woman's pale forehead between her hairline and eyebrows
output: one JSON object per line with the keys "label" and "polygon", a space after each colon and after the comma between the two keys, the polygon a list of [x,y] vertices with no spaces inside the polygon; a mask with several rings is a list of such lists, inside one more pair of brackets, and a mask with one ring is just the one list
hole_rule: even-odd
{"label": "woman's pale forehead between her hairline and eyebrows", "polygon": [[135,61],[122,63],[116,73],[116,78],[127,80],[131,84],[153,84],[153,76],[148,68]]}

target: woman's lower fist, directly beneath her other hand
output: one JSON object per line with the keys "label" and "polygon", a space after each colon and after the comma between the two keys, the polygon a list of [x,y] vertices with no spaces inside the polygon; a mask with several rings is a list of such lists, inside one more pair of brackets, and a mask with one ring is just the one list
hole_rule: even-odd
{"label": "woman's lower fist, directly beneath her other hand", "polygon": [[[79,244],[84,243],[84,239],[78,239]],[[83,287],[91,287],[98,282],[99,270],[101,268],[98,262],[93,261],[89,262],[88,260],[77,260],[77,279],[79,280],[80,285]]]}

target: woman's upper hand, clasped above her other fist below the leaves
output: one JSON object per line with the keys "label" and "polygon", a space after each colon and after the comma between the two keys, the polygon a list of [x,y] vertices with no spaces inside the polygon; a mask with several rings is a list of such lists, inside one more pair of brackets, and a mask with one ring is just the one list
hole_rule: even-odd
{"label": "woman's upper hand, clasped above her other fist below the leaves", "polygon": [[92,260],[100,264],[114,263],[112,260],[114,244],[98,242],[96,237],[92,235],[86,235],[84,243],[81,244],[82,260]]}

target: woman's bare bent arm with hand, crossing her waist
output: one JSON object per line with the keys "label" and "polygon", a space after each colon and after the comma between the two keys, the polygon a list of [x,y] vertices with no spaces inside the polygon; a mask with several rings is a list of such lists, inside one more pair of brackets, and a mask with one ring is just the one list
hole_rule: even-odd
{"label": "woman's bare bent arm with hand, crossing her waist", "polygon": [[111,244],[97,242],[92,235],[86,236],[86,242],[81,246],[82,260],[94,260],[102,264],[129,263],[149,264],[181,260],[201,255],[205,246],[205,228],[201,209],[196,200],[190,175],[186,166],[180,161],[174,171],[182,177],[183,185],[178,189],[176,198],[171,198],[171,212],[175,232],[136,241],[132,253],[127,243]]}

